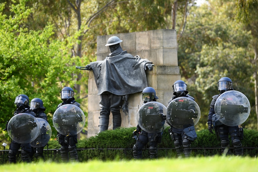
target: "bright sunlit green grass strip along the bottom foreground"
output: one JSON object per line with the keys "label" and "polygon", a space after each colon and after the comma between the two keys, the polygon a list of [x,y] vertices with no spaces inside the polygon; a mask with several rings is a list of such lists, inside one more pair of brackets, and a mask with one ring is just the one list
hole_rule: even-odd
{"label": "bright sunlit green grass strip along the bottom foreground", "polygon": [[39,162],[0,165],[1,172],[256,172],[258,159],[252,157],[213,156],[189,159],[116,160],[77,163]]}

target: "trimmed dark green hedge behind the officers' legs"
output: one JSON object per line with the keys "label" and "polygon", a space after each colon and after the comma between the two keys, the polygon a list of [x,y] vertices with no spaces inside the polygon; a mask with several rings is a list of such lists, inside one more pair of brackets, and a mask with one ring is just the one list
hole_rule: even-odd
{"label": "trimmed dark green hedge behind the officers' legs", "polygon": [[[162,142],[158,144],[159,158],[176,157],[174,144],[167,132],[167,129],[164,130]],[[136,142],[133,138],[133,130],[135,130],[135,127],[106,130],[99,133],[97,136],[79,140],[77,144],[78,150],[86,149],[78,151],[79,160],[82,162],[89,159],[133,159],[132,148]],[[220,154],[220,141],[217,140],[215,133],[211,134],[207,129],[197,131],[196,133],[197,139],[191,144],[194,156],[213,156]],[[241,140],[244,147],[244,156],[257,156],[257,139],[258,131],[244,129],[244,139]],[[233,149],[232,147],[233,146],[230,141],[230,149]],[[59,148],[60,145],[57,141],[48,142],[48,149]],[[233,154],[233,150],[231,152]],[[148,145],[146,146],[146,149],[143,150],[142,157],[149,158]],[[56,159],[57,158],[58,156]]]}

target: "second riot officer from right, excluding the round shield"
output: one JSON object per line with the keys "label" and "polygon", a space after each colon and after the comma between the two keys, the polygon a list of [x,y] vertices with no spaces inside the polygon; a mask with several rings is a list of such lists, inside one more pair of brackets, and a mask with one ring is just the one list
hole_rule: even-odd
{"label": "second riot officer from right, excluding the round shield", "polygon": [[[179,98],[179,97],[186,97],[186,98],[190,98],[191,100],[195,101],[195,99],[188,95],[188,91],[187,91],[187,84],[182,81],[182,80],[177,80],[176,82],[174,82],[173,86],[173,97],[169,100],[169,104],[170,102],[172,102],[174,99]],[[193,103],[182,103],[182,105],[180,107],[177,107],[179,109],[183,109],[185,111],[189,111],[189,112],[195,112],[195,106]],[[167,108],[168,112],[170,113],[170,108],[168,106]],[[172,114],[174,116],[179,116],[177,114]],[[168,116],[168,115],[167,115]],[[172,140],[174,141],[174,146],[176,148],[177,151],[177,156],[182,158],[182,157],[190,157],[192,156],[192,147],[191,147],[191,142],[193,140],[195,140],[197,138],[195,129],[194,129],[194,123],[192,118],[177,118],[175,117],[173,119],[173,124],[169,123],[167,121],[167,123],[170,125],[169,128],[169,134],[172,138]],[[190,139],[190,136],[188,135],[188,133],[186,133],[185,129],[188,127],[192,127],[192,134],[194,135],[193,138]]]}

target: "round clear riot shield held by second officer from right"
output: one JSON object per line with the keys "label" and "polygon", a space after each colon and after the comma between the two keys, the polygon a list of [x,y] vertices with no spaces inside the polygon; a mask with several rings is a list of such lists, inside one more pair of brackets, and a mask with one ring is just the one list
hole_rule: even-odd
{"label": "round clear riot shield held by second officer from right", "polygon": [[188,97],[178,97],[167,106],[167,121],[177,129],[195,126],[201,117],[198,104]]}

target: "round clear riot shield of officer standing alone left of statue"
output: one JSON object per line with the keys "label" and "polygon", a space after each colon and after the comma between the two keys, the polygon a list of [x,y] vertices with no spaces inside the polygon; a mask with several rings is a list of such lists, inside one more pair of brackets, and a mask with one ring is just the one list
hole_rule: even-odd
{"label": "round clear riot shield of officer standing alone left of statue", "polygon": [[78,106],[65,104],[54,112],[53,124],[62,135],[76,135],[81,132],[85,125],[85,116]]}

